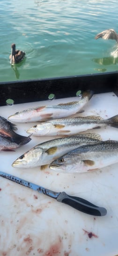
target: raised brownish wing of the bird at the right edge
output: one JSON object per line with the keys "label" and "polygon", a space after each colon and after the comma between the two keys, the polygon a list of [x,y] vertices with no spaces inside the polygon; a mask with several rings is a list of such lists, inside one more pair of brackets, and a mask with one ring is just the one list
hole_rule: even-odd
{"label": "raised brownish wing of the bird at the right edge", "polygon": [[107,29],[97,34],[95,39],[103,38],[104,40],[115,39],[118,41],[118,34],[113,29]]}

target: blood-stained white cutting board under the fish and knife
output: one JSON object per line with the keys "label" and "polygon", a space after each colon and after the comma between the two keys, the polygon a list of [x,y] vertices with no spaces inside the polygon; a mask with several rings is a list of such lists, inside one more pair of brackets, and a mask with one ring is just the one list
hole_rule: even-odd
{"label": "blood-stained white cutting board under the fish and knife", "polygon": [[[77,98],[40,101],[0,107],[0,116],[34,106],[58,104]],[[79,98],[78,98],[79,100]],[[118,114],[114,93],[92,97],[80,116]],[[27,136],[32,124],[17,124]],[[118,140],[118,129],[91,130],[102,140]],[[0,177],[0,256],[115,256],[118,254],[118,164],[83,174],[63,174],[40,168],[17,169],[11,164],[31,147],[53,137],[34,137],[15,152],[0,152],[0,170],[56,192],[82,197],[107,209],[104,217],[94,217]],[[56,137],[54,137],[56,138]],[[92,234],[92,237],[90,238]]]}

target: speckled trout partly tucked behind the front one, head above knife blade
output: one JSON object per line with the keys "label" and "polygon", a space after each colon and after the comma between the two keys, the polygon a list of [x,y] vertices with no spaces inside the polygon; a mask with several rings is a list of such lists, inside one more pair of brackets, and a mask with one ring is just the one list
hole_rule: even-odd
{"label": "speckled trout partly tucked behind the front one, head above knife blade", "polygon": [[32,168],[50,164],[53,160],[70,150],[86,144],[100,143],[100,135],[86,133],[66,138],[48,140],[31,148],[29,151],[17,158],[12,164],[18,168]]}

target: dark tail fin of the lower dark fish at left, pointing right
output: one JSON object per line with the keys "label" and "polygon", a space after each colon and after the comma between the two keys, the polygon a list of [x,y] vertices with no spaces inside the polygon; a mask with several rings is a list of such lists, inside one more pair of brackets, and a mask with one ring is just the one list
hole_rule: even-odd
{"label": "dark tail fin of the lower dark fish at left, pointing right", "polygon": [[19,135],[19,134],[17,134],[17,133],[15,133],[14,134],[14,137],[12,138],[12,140],[15,142],[15,143],[17,143],[19,146],[22,146],[22,145],[25,145],[25,144],[27,144],[28,142],[30,142],[30,140],[31,140],[31,135],[32,134],[30,134],[28,137],[26,137],[26,136],[22,136],[22,135]]}

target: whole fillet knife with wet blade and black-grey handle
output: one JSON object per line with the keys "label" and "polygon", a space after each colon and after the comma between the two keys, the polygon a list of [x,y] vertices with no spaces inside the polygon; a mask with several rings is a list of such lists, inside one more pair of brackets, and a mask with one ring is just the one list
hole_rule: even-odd
{"label": "whole fillet knife with wet blade and black-grey handle", "polygon": [[58,202],[66,203],[69,206],[73,207],[74,209],[80,210],[89,215],[104,216],[107,213],[107,210],[105,208],[96,206],[83,198],[68,195],[66,194],[66,192],[55,192],[43,186],[36,185],[32,182],[26,181],[22,178],[15,177],[3,171],[0,171],[0,176],[3,178],[7,178],[11,181],[14,181],[15,183],[18,183],[22,186],[29,187],[39,193],[48,195],[53,199],[56,199]]}

